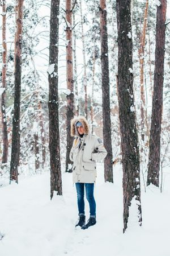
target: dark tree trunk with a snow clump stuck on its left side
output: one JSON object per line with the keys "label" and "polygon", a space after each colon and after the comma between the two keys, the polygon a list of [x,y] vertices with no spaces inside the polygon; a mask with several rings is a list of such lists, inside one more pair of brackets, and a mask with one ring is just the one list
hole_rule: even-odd
{"label": "dark tree trunk with a snow clump stuck on its left side", "polygon": [[59,148],[58,117],[58,27],[59,0],[51,0],[49,45],[49,152],[50,152],[50,198],[54,191],[62,195],[61,162]]}

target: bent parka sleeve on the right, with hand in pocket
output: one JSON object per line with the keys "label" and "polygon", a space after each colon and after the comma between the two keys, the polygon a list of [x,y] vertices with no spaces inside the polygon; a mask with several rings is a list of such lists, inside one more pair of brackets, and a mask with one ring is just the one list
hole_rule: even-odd
{"label": "bent parka sleeve on the right, with hand in pocket", "polygon": [[95,139],[95,152],[92,153],[92,161],[103,160],[107,156],[107,151],[103,146],[103,142],[100,138]]}

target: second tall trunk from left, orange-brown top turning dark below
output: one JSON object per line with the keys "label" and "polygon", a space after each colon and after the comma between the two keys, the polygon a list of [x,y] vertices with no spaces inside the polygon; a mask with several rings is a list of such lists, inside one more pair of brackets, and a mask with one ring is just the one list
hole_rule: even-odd
{"label": "second tall trunk from left, orange-brown top turning dark below", "polygon": [[12,120],[12,148],[10,164],[10,182],[15,180],[18,183],[18,165],[20,149],[20,90],[22,75],[22,32],[23,32],[23,2],[18,0],[18,17],[15,39],[15,72],[14,72],[14,116]]}

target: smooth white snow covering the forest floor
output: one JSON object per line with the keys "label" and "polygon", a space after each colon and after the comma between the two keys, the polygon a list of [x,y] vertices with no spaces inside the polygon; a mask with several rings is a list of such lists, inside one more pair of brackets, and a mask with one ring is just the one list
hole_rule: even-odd
{"label": "smooth white snow covering the forest floor", "polygon": [[[122,167],[114,168],[114,184],[104,183],[98,164],[95,199],[97,224],[75,229],[78,218],[72,174],[63,173],[63,196],[50,201],[50,174],[19,177],[19,184],[0,188],[1,256],[169,256],[170,172],[164,190],[142,187],[142,226],[131,208],[123,234]],[[88,204],[86,201],[86,219]]]}

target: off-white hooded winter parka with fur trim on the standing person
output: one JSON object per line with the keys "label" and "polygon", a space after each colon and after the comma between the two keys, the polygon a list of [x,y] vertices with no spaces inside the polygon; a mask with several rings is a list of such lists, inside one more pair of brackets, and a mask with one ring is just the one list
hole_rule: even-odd
{"label": "off-white hooded winter parka with fur trim on the standing person", "polygon": [[[84,135],[81,138],[76,123],[81,122],[84,127]],[[96,135],[89,134],[86,118],[76,117],[71,121],[71,135],[76,136],[70,151],[70,160],[73,161],[73,183],[95,183],[96,160],[102,160],[107,156],[107,151]]]}

